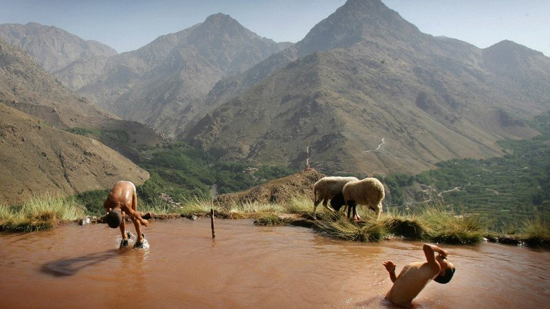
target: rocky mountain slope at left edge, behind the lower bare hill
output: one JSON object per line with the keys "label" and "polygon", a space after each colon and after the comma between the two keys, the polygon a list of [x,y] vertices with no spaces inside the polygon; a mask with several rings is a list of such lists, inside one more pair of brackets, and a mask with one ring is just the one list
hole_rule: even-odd
{"label": "rocky mountain slope at left edge, behind the lower bare hill", "polygon": [[161,141],[151,128],[118,119],[75,95],[25,51],[1,39],[0,73],[0,102],[39,117],[50,126],[120,131],[134,144]]}

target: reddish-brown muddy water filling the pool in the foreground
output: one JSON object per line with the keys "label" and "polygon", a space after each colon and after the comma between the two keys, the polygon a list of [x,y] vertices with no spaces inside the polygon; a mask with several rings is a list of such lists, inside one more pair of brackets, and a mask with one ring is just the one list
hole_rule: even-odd
{"label": "reddish-brown muddy water filling the pool in the foreground", "polygon": [[[392,308],[382,262],[393,260],[399,272],[423,260],[421,242],[216,223],[212,240],[210,220],[153,220],[141,250],[119,250],[118,229],[106,225],[0,233],[0,308]],[[454,278],[430,282],[416,308],[549,308],[550,251],[443,248]]]}

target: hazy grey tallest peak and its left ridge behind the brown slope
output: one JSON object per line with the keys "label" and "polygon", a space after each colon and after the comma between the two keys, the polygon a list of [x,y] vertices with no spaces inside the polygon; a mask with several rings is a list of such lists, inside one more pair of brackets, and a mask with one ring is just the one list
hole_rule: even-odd
{"label": "hazy grey tallest peak and its left ridge behind the brown slope", "polygon": [[[351,6],[357,7],[358,10],[349,10]],[[384,19],[378,18],[377,14],[384,15]],[[351,47],[367,39],[373,45],[375,44],[374,48],[378,49],[386,48],[388,41],[415,42],[424,38],[415,25],[401,19],[399,14],[386,8],[380,1],[348,3],[348,5],[339,8],[333,15],[338,16],[338,18],[329,16],[329,18],[320,21],[296,45],[270,56],[248,71],[217,82],[203,100],[192,102],[192,109],[196,111],[194,117],[190,121],[180,122],[176,128],[177,133],[190,130],[190,127],[195,125],[206,113],[298,58],[332,48]],[[392,30],[389,25],[393,28]],[[187,112],[181,111],[177,118],[182,119],[181,114]]]}

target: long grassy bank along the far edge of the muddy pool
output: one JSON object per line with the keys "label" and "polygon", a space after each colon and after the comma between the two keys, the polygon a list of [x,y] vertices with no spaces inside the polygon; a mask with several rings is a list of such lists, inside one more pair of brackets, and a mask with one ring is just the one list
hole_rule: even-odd
{"label": "long grassy bank along the far edge of the muddy pool", "polygon": [[[0,230],[37,231],[50,229],[65,221],[75,221],[90,214],[87,208],[74,198],[35,196],[21,205],[0,205]],[[332,214],[320,207],[319,220],[312,220],[312,202],[309,198],[295,198],[289,203],[245,203],[215,205],[210,199],[188,198],[177,206],[162,200],[140,203],[140,211],[153,211],[155,218],[179,218],[209,216],[214,209],[219,218],[253,218],[256,225],[285,225],[304,222],[318,233],[332,238],[360,242],[379,242],[399,238],[423,240],[444,244],[474,244],[484,239],[510,243],[525,243],[531,246],[550,246],[549,220],[536,217],[507,227],[507,231],[489,231],[491,222],[483,216],[464,216],[438,204],[426,204],[406,214],[388,212],[376,220],[373,211],[359,207],[361,220],[350,221],[343,212]]]}

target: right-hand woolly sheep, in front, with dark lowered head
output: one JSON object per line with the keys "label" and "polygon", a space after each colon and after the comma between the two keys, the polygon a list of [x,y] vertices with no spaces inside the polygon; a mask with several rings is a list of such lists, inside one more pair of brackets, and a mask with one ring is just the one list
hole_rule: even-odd
{"label": "right-hand woolly sheep, in front, with dark lowered head", "polygon": [[348,218],[350,211],[353,208],[353,220],[359,220],[357,214],[357,205],[366,205],[369,209],[376,211],[378,220],[382,213],[382,201],[384,200],[384,185],[375,178],[366,178],[360,181],[350,181],[342,188],[344,201],[348,207]]}

